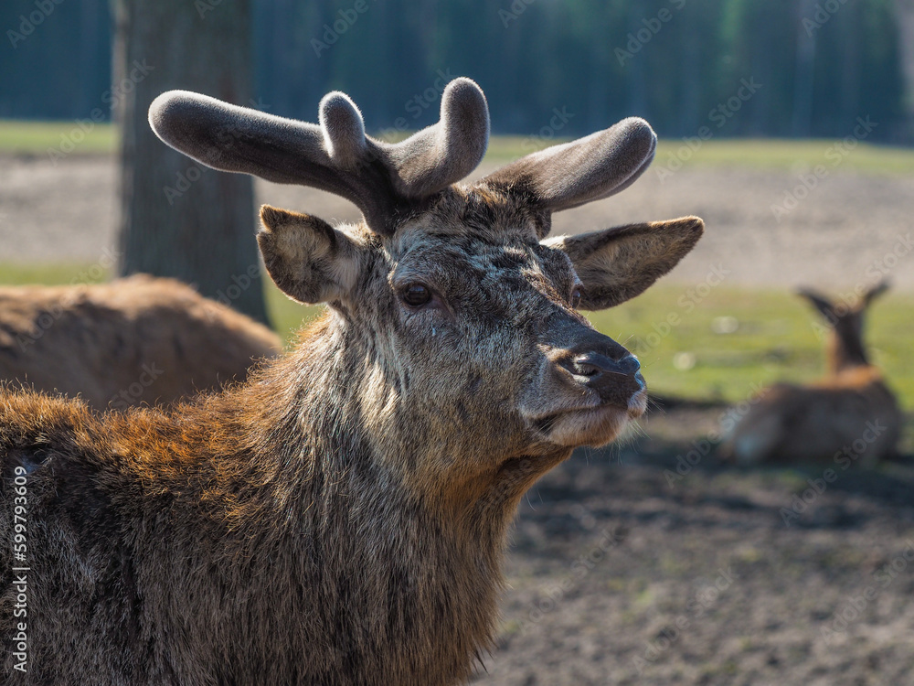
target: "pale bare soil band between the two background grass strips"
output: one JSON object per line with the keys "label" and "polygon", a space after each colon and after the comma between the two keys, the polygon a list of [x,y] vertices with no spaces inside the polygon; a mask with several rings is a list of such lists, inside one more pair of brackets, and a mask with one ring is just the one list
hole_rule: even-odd
{"label": "pale bare soil band between the two background grass strips", "polygon": [[[484,164],[474,176],[493,168]],[[0,259],[98,260],[116,244],[115,172],[108,156],[73,155],[57,166],[44,157],[0,157]],[[719,264],[727,284],[849,290],[885,265],[898,290],[914,291],[914,254],[887,260],[911,232],[914,178],[839,169],[777,220],[771,206],[798,185],[796,174],[781,171],[685,166],[661,181],[649,170],[617,197],[559,212],[554,231],[696,214],[707,222],[706,237],[670,282],[699,283]],[[358,218],[345,200],[309,188],[258,181],[257,198],[325,220]],[[255,226],[251,218],[251,232]]]}

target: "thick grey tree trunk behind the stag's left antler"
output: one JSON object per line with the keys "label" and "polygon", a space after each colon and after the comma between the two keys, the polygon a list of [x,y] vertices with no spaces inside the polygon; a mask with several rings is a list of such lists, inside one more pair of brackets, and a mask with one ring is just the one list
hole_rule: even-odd
{"label": "thick grey tree trunk behind the stag's left antler", "polygon": [[146,120],[170,89],[253,104],[250,0],[117,0],[116,13],[119,271],[173,276],[265,322],[251,177],[198,165]]}

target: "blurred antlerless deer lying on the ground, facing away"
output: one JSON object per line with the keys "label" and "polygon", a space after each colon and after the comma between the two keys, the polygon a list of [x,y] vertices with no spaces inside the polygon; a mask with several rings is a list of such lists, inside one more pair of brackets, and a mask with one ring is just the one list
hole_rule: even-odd
{"label": "blurred antlerless deer lying on the ground, facing away", "polygon": [[885,281],[876,284],[851,305],[810,288],[797,291],[830,327],[827,374],[761,391],[734,426],[724,456],[740,465],[834,462],[842,469],[872,468],[896,456],[902,415],[863,341],[864,315],[887,289]]}

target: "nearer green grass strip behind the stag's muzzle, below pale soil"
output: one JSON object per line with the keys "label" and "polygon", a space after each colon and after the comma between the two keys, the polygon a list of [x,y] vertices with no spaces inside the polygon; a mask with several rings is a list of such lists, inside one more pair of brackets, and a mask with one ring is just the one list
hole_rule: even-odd
{"label": "nearer green grass strip behind the stag's muzzle, below pale soil", "polygon": [[[23,266],[0,263],[0,284],[68,284],[86,267],[73,264]],[[698,301],[698,302],[696,302]],[[273,325],[287,340],[321,307],[304,307],[267,285]],[[691,310],[689,309],[691,307]],[[663,322],[679,316],[664,332]],[[732,333],[720,317],[736,319]],[[781,291],[718,286],[704,298],[685,286],[657,285],[629,303],[590,320],[627,345],[642,360],[644,377],[656,393],[739,402],[772,381],[812,381],[824,372],[820,320],[799,298]],[[726,323],[732,325],[732,320]],[[872,306],[866,340],[873,360],[886,372],[906,409],[914,408],[914,296],[889,293]]]}

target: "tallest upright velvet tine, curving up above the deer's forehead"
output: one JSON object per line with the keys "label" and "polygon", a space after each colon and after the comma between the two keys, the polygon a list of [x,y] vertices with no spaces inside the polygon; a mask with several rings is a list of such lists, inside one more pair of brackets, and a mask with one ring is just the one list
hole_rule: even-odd
{"label": "tallest upright velvet tine, curving up above the deer's forehead", "polygon": [[489,145],[489,106],[473,80],[452,80],[441,94],[441,120],[386,145],[399,190],[422,198],[460,181],[479,165]]}

